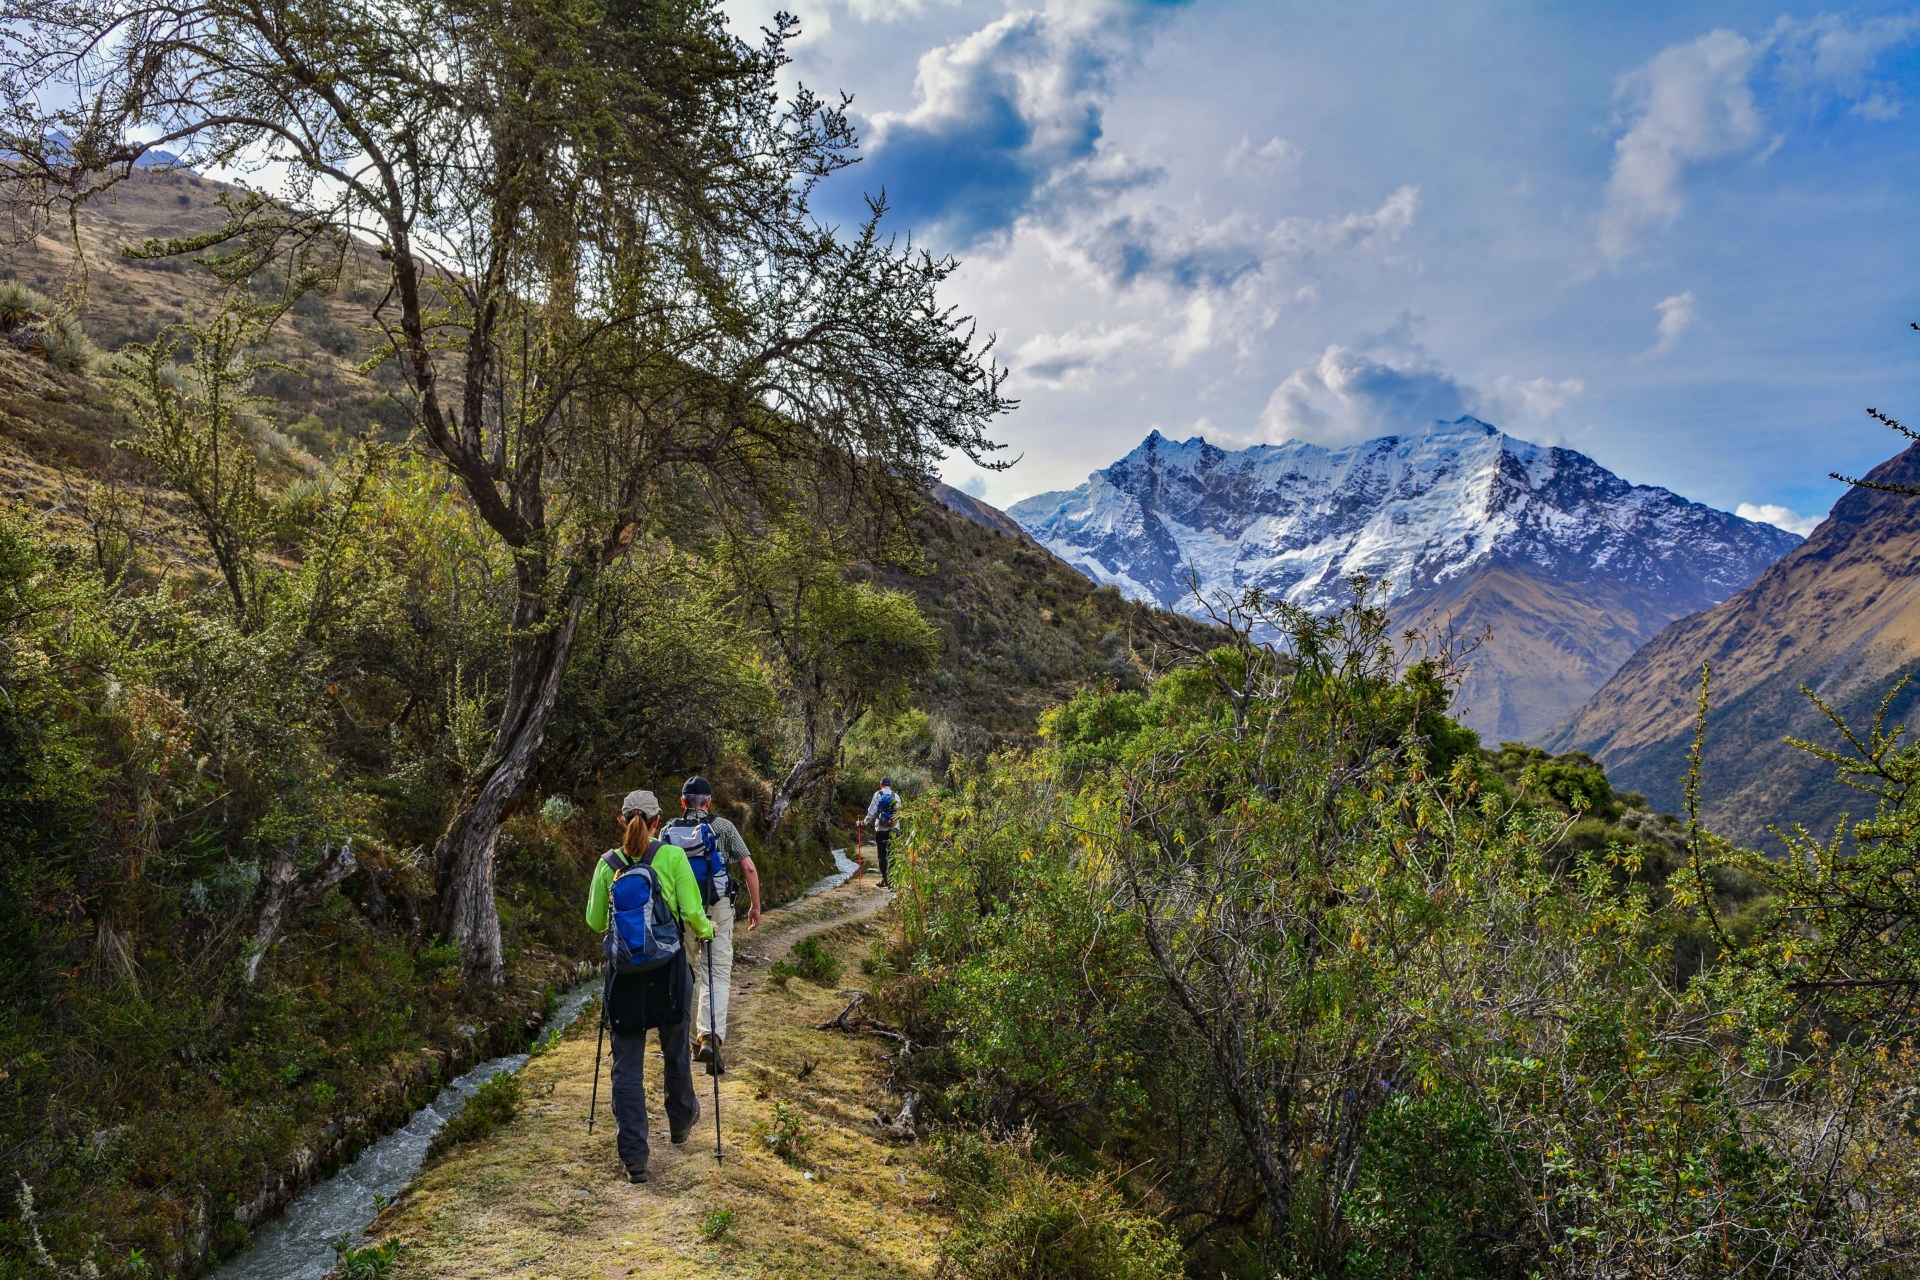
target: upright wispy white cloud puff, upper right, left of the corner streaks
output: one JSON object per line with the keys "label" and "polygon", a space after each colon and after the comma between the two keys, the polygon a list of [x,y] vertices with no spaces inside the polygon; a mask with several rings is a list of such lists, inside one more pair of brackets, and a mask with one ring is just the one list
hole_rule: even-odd
{"label": "upright wispy white cloud puff, upper right, left of the corner streaks", "polygon": [[1755,146],[1766,121],[1753,102],[1757,48],[1732,31],[1709,31],[1655,54],[1622,77],[1626,132],[1613,144],[1613,178],[1599,215],[1599,251],[1620,261],[1647,230],[1680,217],[1688,165]]}

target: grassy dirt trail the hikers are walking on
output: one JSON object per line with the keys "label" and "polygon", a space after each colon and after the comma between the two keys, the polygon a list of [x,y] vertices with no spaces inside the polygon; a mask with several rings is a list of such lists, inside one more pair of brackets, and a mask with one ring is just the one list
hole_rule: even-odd
{"label": "grassy dirt trail the hikers are walking on", "polygon": [[[614,1153],[601,1080],[601,1119],[588,1138],[595,1019],[582,1017],[526,1065],[520,1117],[420,1174],[372,1236],[399,1236],[396,1276],[920,1276],[941,1232],[935,1184],[910,1148],[881,1138],[876,1113],[885,1044],[816,1031],[868,984],[860,960],[881,936],[874,917],[891,894],[872,873],[768,912],[735,944],[758,963],[735,967],[728,1073],[720,1084],[726,1161],[714,1165],[712,1079],[695,1063],[703,1117],[687,1146],[666,1142],[659,1050],[649,1054],[655,1132],[651,1178],[630,1186]],[[770,983],[766,963],[824,933],[845,961],[841,984]],[[603,1067],[605,1071],[605,1067]],[[812,1136],[804,1167],[766,1148],[776,1103]],[[714,1209],[733,1222],[701,1240]]]}

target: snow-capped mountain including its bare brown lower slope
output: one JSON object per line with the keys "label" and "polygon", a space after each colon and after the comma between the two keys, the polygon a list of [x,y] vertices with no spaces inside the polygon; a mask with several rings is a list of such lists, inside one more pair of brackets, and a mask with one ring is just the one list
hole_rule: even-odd
{"label": "snow-capped mountain including its bare brown lower slope", "polygon": [[1008,514],[1094,581],[1183,612],[1200,612],[1190,572],[1210,597],[1258,585],[1313,610],[1367,574],[1404,622],[1438,610],[1461,631],[1490,626],[1461,714],[1507,737],[1571,714],[1665,624],[1801,541],[1478,418],[1346,449],[1231,453],[1154,432]]}

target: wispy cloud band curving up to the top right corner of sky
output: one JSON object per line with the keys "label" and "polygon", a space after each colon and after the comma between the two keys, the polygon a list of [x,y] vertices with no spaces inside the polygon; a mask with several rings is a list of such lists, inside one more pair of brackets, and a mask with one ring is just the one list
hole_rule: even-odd
{"label": "wispy cloud band curving up to the top right corner of sky", "polygon": [[1893,88],[1870,77],[1880,56],[1920,36],[1920,17],[1880,17],[1849,23],[1822,15],[1782,17],[1772,31],[1749,40],[1736,31],[1707,35],[1663,48],[1620,77],[1620,136],[1613,144],[1613,173],[1599,211],[1597,246],[1619,263],[1647,232],[1667,230],[1686,207],[1686,173],[1715,159],[1764,159],[1782,136],[1770,136],[1757,84],[1837,98],[1864,119],[1895,119]]}

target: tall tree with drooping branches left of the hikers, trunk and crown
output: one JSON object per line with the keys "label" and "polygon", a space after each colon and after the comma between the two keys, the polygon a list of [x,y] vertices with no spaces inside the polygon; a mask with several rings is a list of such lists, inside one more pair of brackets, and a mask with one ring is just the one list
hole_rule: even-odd
{"label": "tall tree with drooping branches left of the hikers, trunk and crown", "polygon": [[828,478],[897,503],[939,453],[985,455],[1008,401],[937,299],[952,263],[885,240],[877,207],[851,238],[810,219],[852,132],[806,90],[781,104],[787,17],[760,44],[712,0],[8,0],[0,19],[15,196],[77,209],[167,148],[290,177],[154,251],[376,246],[376,359],[513,557],[493,739],[436,848],[440,927],[499,981],[495,842],[593,581],[676,486],[739,505]]}

